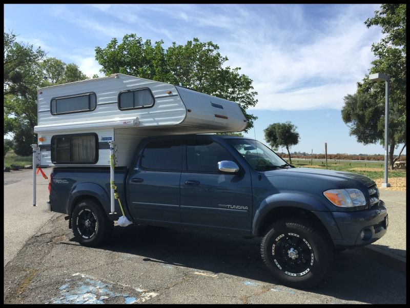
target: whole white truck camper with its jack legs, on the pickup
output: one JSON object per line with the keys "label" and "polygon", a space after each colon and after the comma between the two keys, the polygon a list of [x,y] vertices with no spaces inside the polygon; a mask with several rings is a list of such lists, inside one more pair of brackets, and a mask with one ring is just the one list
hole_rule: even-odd
{"label": "whole white truck camper with its jack legs, on the pickup", "polygon": [[[235,132],[247,125],[235,102],[125,74],[39,88],[37,119],[33,205],[36,166],[111,166],[113,180],[114,165],[129,167],[144,137]],[[111,200],[113,212],[113,189]]]}

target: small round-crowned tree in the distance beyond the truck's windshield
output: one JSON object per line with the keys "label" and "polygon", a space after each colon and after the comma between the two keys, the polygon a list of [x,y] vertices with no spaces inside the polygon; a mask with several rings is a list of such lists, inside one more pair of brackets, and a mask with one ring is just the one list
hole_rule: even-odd
{"label": "small round-crowned tree in the distance beyond the truck's windshield", "polygon": [[296,131],[296,128],[297,126],[287,121],[285,123],[273,123],[263,130],[265,140],[272,148],[286,147],[291,164],[292,158],[289,148],[299,143],[299,133]]}

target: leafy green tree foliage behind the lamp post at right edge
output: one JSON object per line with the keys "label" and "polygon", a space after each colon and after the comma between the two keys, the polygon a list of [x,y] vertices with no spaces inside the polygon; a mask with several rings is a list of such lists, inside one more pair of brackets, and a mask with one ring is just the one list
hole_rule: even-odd
{"label": "leafy green tree foliage behind the lamp post at right edge", "polygon": [[[365,25],[380,26],[385,34],[372,45],[376,59],[369,74],[383,73],[390,77],[388,155],[393,168],[406,146],[406,5],[382,4]],[[369,80],[369,74],[358,83],[355,94],[344,97],[342,119],[358,142],[380,142],[384,146],[385,84]],[[394,158],[394,149],[403,143],[399,156]]]}

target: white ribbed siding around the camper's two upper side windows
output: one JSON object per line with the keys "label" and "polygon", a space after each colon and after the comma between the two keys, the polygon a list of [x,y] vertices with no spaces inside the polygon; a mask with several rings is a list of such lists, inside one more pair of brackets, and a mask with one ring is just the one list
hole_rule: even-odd
{"label": "white ribbed siding around the camper's two upper side windows", "polygon": [[[175,86],[124,74],[116,76],[38,89],[38,124],[34,127],[34,132],[124,127],[133,125],[130,121],[136,118],[139,127],[176,125],[185,119],[187,109]],[[154,105],[150,108],[120,110],[117,103],[119,92],[138,88],[150,88],[155,99]],[[167,91],[171,91],[171,94]],[[96,94],[94,110],[51,114],[50,104],[53,98],[87,92]]]}

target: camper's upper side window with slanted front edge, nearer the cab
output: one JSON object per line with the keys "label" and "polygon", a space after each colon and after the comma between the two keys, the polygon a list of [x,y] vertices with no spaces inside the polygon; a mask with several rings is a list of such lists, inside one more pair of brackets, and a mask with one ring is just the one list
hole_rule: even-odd
{"label": "camper's upper side window with slanted front edge, nearer the cab", "polygon": [[118,95],[118,108],[120,110],[150,108],[154,106],[154,95],[148,88],[127,90]]}

